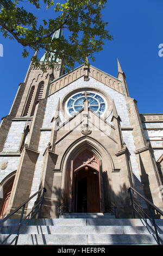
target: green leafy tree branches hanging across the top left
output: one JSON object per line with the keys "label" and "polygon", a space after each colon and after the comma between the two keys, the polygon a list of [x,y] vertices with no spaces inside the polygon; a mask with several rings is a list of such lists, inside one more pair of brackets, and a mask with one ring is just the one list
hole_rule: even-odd
{"label": "green leafy tree branches hanging across the top left", "polygon": [[[40,9],[39,0],[0,0],[0,29],[5,38],[15,39],[23,46],[23,57],[29,55],[29,48],[46,52],[46,65],[53,67],[48,59],[51,53],[64,60],[66,70],[74,68],[74,63],[86,63],[86,56],[95,60],[93,53],[103,49],[104,40],[112,36],[106,29],[108,22],[102,19],[102,10],[106,0],[67,0],[54,3],[54,0],[43,0],[46,9],[53,8],[55,19],[38,21],[34,13],[24,7],[30,2]],[[22,5],[23,3],[23,5]],[[68,29],[69,36],[52,39],[59,28]],[[39,65],[37,57],[33,57]]]}

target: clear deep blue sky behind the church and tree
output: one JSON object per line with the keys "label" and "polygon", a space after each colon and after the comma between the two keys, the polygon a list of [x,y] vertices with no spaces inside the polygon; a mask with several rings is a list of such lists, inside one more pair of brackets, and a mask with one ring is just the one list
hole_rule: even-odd
{"label": "clear deep blue sky behind the church and tree", "polygon": [[[26,2],[23,3],[24,7]],[[29,8],[29,5],[28,5]],[[52,13],[51,13],[52,15]],[[42,11],[42,19],[48,11]],[[104,50],[95,54],[93,66],[117,76],[117,58],[126,73],[130,97],[137,100],[140,113],[162,113],[162,66],[159,44],[163,44],[162,0],[108,0],[103,11],[113,41],[106,41]],[[0,37],[1,94],[0,119],[8,115],[18,84],[24,81],[30,58],[22,57],[22,46]]]}

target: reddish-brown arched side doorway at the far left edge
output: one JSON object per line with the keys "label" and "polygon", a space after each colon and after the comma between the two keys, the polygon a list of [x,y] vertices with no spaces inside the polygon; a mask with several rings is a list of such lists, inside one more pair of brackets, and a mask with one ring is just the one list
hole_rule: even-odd
{"label": "reddish-brown arched side doorway at the far left edge", "polygon": [[0,199],[0,218],[3,218],[3,215],[5,214],[5,211],[8,208],[11,190],[14,184],[14,179],[15,179],[15,172],[7,176],[1,182],[1,188],[3,190],[3,198]]}

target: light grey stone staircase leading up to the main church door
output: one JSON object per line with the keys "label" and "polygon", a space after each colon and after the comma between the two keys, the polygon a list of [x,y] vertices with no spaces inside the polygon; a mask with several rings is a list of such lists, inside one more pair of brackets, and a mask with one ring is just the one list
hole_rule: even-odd
{"label": "light grey stone staircase leading up to the main church door", "polygon": [[[149,221],[148,221],[149,222]],[[0,224],[3,241],[18,220]],[[156,220],[163,240],[163,220]],[[33,219],[18,237],[18,245],[156,245],[153,231],[142,219],[111,214],[64,214],[56,219]],[[153,228],[154,229],[154,228]],[[11,235],[8,243],[14,239]]]}

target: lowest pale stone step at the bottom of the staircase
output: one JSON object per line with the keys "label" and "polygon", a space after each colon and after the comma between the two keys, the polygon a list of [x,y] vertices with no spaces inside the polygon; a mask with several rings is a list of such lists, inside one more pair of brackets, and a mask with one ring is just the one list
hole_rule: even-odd
{"label": "lowest pale stone step at the bottom of the staircase", "polygon": [[[7,235],[1,235],[3,239]],[[14,239],[11,235],[8,243]],[[161,235],[161,239],[163,236]],[[21,234],[17,245],[156,245],[156,239],[151,234]]]}

